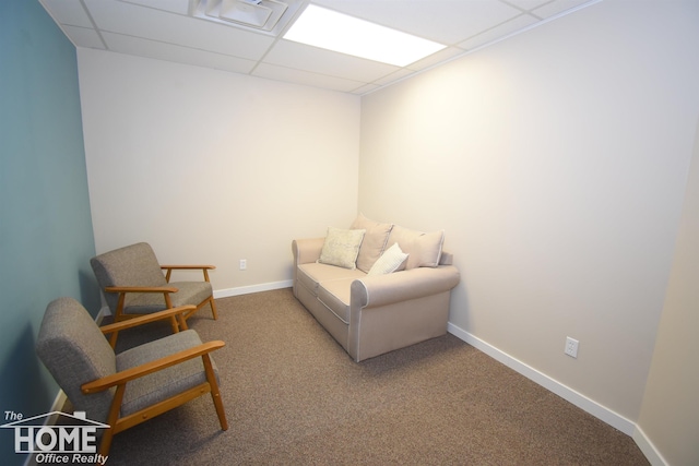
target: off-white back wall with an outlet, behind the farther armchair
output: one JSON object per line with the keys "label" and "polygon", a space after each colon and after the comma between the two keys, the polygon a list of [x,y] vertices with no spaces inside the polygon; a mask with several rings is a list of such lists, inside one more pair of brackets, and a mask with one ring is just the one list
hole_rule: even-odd
{"label": "off-white back wall with an outlet, behind the farther armchair", "polygon": [[91,49],[78,59],[97,253],[149,241],[162,263],[215,264],[221,295],[291,279],[293,238],[356,215],[359,97]]}

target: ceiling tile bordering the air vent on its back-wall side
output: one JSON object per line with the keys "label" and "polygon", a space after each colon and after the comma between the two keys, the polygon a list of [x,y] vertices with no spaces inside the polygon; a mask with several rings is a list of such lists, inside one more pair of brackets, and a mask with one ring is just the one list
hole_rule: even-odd
{"label": "ceiling tile bordering the air vent on its back-wall side", "polygon": [[102,31],[257,60],[273,37],[130,3],[85,0]]}

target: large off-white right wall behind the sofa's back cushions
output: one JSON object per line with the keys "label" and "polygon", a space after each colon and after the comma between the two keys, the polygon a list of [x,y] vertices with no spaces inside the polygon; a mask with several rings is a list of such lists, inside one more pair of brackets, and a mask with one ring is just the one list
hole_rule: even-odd
{"label": "large off-white right wall behind the sofa's back cushions", "polygon": [[362,101],[359,210],[446,229],[453,326],[626,426],[695,138],[697,8],[606,0]]}

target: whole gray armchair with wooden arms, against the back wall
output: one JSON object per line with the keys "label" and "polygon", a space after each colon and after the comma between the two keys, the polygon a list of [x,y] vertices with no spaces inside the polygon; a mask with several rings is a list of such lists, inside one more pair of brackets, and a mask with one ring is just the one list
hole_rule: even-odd
{"label": "whole gray armchair with wooden arms, against the back wall", "polygon": [[[211,306],[213,318],[217,319],[209,282],[209,271],[215,268],[214,265],[161,265],[146,242],[99,254],[90,260],[90,265],[116,322],[179,306],[194,306],[193,310],[180,315],[179,324],[171,319],[173,331],[177,333],[179,328],[187,330],[186,320],[206,303]],[[204,279],[170,282],[174,270],[201,270]],[[116,335],[112,335],[112,347]]]}

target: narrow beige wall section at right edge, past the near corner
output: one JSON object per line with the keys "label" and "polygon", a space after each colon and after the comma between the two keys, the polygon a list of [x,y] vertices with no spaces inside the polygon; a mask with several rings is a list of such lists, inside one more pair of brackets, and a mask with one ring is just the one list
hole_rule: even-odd
{"label": "narrow beige wall section at right edge, past the near corner", "polygon": [[671,465],[699,464],[698,309],[699,124],[667,296],[638,421],[639,432],[653,444],[647,456],[653,457],[655,450]]}

